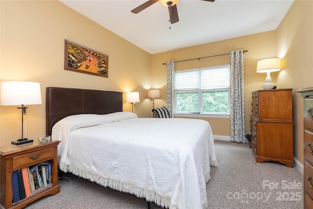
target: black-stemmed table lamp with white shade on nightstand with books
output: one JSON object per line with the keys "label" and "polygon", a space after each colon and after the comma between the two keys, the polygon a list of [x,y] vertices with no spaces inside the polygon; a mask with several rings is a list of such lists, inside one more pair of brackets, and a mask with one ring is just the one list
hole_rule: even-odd
{"label": "black-stemmed table lamp with white shade on nightstand with books", "polygon": [[18,109],[21,109],[21,138],[11,141],[11,144],[21,145],[33,142],[33,139],[27,139],[27,133],[25,133],[27,132],[27,107],[25,105],[42,104],[40,84],[27,81],[4,81],[1,82],[0,92],[0,105],[19,105]]}

